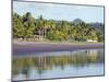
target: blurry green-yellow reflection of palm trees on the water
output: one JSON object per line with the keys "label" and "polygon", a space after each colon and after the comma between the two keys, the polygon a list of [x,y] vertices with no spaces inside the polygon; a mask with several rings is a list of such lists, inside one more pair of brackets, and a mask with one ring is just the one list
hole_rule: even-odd
{"label": "blurry green-yellow reflection of palm trees on the water", "polygon": [[[84,67],[89,63],[96,63],[98,61],[104,61],[102,52],[101,55],[94,50],[85,51],[70,51],[70,55],[61,56],[39,56],[39,57],[27,57],[27,58],[14,58],[13,70],[16,72],[19,68],[23,68],[23,73],[27,74],[27,70],[31,67],[37,67],[38,73],[41,74],[46,70],[50,70],[53,67],[60,66],[64,70],[65,66]],[[98,55],[99,54],[99,55]]]}

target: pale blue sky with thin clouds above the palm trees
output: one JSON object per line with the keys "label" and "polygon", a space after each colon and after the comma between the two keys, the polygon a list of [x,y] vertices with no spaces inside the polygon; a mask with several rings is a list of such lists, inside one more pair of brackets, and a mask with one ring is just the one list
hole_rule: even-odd
{"label": "pale blue sky with thin clouds above the palm trees", "polygon": [[104,23],[104,7],[14,1],[13,12],[20,15],[31,12],[36,19],[43,15],[48,20],[73,21],[81,19],[86,23]]}

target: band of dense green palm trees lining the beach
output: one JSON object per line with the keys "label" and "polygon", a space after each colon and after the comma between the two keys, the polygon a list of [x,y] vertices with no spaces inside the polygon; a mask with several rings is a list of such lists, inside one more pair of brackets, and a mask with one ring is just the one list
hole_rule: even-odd
{"label": "band of dense green palm trees lining the beach", "polygon": [[99,30],[78,19],[69,22],[46,20],[43,15],[35,19],[31,12],[22,16],[13,13],[13,37],[22,40],[104,42],[104,24],[101,25],[102,30]]}

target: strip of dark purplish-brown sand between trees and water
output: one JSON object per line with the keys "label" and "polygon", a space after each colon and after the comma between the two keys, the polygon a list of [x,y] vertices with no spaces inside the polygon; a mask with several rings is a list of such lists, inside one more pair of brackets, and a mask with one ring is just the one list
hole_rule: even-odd
{"label": "strip of dark purplish-brown sand between trees and water", "polygon": [[27,52],[48,52],[48,51],[72,51],[80,49],[100,49],[104,44],[13,44],[13,55],[24,55]]}

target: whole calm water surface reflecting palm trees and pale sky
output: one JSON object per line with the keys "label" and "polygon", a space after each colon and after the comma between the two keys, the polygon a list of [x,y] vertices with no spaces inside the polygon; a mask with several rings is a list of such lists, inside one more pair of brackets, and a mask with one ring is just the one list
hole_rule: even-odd
{"label": "whole calm water surface reflecting palm trees and pale sky", "polygon": [[[13,80],[104,74],[104,49],[15,56],[12,68]],[[77,73],[76,70],[81,72],[85,70],[87,73]]]}

